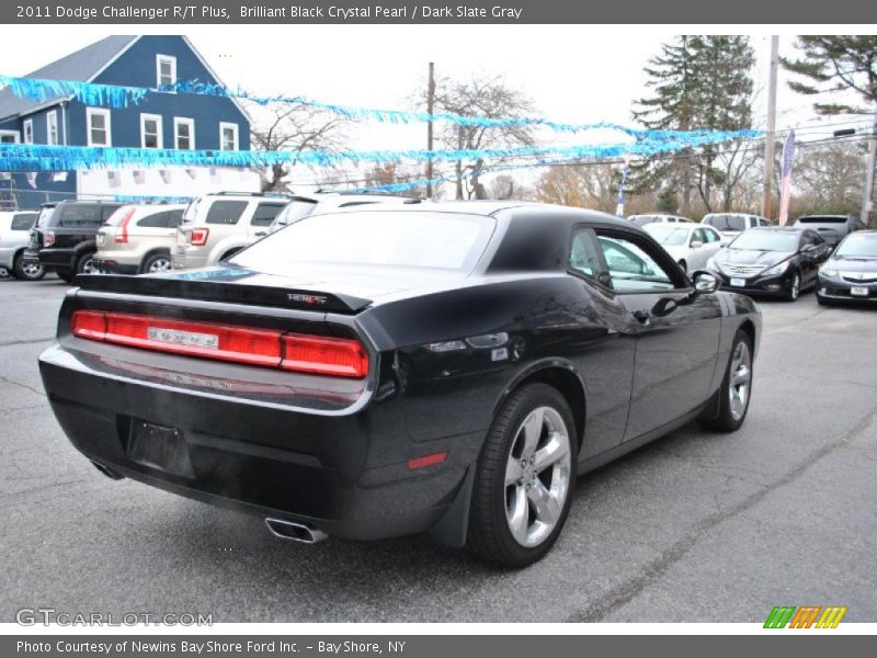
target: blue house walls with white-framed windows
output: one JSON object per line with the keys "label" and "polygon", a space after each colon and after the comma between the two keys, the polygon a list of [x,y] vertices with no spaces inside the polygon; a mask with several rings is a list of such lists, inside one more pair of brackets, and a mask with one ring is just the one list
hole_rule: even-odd
{"label": "blue house walls with white-framed windows", "polygon": [[[221,84],[189,39],[179,35],[107,36],[26,77],[148,88],[176,80]],[[90,107],[69,97],[34,102],[4,89],[0,91],[0,141],[246,150],[250,148],[250,120],[240,104],[226,98],[155,93],[147,94],[137,105],[115,110]],[[169,174],[163,173],[167,182]],[[191,171],[190,174],[194,175]],[[19,208],[77,195],[100,195],[95,190],[101,185],[95,182],[99,178],[107,180],[104,172],[98,171],[66,175],[19,172],[2,178],[5,180],[0,181],[0,196],[5,196],[7,205]],[[107,189],[106,195],[119,192],[119,180],[118,175],[111,177],[111,188],[116,190]],[[140,174],[137,181],[143,180]],[[130,185],[124,190],[137,191]]]}

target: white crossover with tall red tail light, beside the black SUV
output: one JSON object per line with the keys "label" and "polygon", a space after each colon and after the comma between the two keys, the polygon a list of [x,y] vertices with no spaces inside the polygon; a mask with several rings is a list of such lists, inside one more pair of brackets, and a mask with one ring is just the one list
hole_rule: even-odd
{"label": "white crossover with tall red tail light, beside the black SUV", "polygon": [[171,269],[171,250],[185,205],[124,205],[99,230],[94,268],[141,274]]}

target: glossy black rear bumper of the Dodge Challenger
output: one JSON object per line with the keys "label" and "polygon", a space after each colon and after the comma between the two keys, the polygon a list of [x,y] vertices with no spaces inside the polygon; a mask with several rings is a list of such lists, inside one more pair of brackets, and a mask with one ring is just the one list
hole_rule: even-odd
{"label": "glossy black rear bumper of the Dodge Challenger", "polygon": [[[478,436],[412,442],[387,406],[329,416],[229,401],[107,377],[93,366],[100,361],[60,345],[39,359],[52,409],[83,455],[174,494],[331,535],[377,540],[431,529],[477,458]],[[174,436],[144,458],[138,443],[151,424]],[[408,468],[412,456],[442,451],[444,463]]]}

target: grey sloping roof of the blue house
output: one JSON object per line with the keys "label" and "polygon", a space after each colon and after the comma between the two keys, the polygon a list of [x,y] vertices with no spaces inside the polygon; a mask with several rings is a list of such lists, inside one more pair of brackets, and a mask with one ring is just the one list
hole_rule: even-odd
{"label": "grey sloping roof of the blue house", "polygon": [[[88,82],[136,38],[138,37],[132,35],[107,36],[24,77]],[[0,91],[0,118],[30,114],[38,107],[54,105],[62,100],[66,100],[66,97],[59,95],[45,101],[32,101],[16,97],[10,89],[3,89]]]}

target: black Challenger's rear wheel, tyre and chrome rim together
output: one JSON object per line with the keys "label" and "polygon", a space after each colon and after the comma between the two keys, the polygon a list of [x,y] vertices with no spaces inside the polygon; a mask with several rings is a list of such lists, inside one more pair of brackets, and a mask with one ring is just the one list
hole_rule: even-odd
{"label": "black Challenger's rear wheel, tyre and chrome rim together", "polygon": [[509,397],[478,460],[466,544],[472,554],[525,567],[550,551],[576,486],[574,427],[551,386],[529,384]]}

